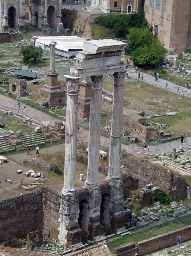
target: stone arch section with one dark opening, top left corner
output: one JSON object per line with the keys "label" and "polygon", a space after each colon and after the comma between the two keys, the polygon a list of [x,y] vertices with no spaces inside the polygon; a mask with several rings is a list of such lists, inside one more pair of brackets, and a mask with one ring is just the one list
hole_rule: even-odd
{"label": "stone arch section with one dark opening, top left corner", "polygon": [[23,0],[0,0],[1,31],[22,33],[25,31],[23,21]]}

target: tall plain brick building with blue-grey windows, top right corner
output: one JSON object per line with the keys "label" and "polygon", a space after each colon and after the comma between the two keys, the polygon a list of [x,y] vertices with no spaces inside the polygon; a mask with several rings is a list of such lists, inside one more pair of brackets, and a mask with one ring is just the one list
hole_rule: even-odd
{"label": "tall plain brick building with blue-grey windows, top right corner", "polygon": [[190,0],[145,0],[145,17],[169,51],[191,49]]}

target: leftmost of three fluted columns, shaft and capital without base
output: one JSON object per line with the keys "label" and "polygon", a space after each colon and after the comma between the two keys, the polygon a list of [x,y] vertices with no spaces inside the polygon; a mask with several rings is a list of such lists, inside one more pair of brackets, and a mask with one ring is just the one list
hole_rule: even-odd
{"label": "leftmost of three fluted columns, shaft and capital without base", "polygon": [[64,190],[74,191],[77,158],[77,98],[79,78],[67,79],[66,139],[64,163]]}

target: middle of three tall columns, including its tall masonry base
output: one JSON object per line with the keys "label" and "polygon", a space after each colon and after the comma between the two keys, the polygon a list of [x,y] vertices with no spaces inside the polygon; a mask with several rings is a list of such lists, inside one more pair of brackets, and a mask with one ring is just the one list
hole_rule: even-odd
{"label": "middle of three tall columns, including its tall masonry base", "polygon": [[88,225],[83,230],[89,240],[103,233],[103,226],[100,224],[101,189],[98,182],[102,80],[103,76],[91,76],[88,172],[85,183],[88,190]]}

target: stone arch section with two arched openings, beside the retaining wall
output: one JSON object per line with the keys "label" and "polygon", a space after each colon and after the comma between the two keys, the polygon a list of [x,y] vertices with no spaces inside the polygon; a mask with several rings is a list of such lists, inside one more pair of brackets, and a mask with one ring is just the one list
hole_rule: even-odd
{"label": "stone arch section with two arched openings, beside the retaining wall", "polygon": [[32,26],[63,33],[62,0],[32,0]]}

